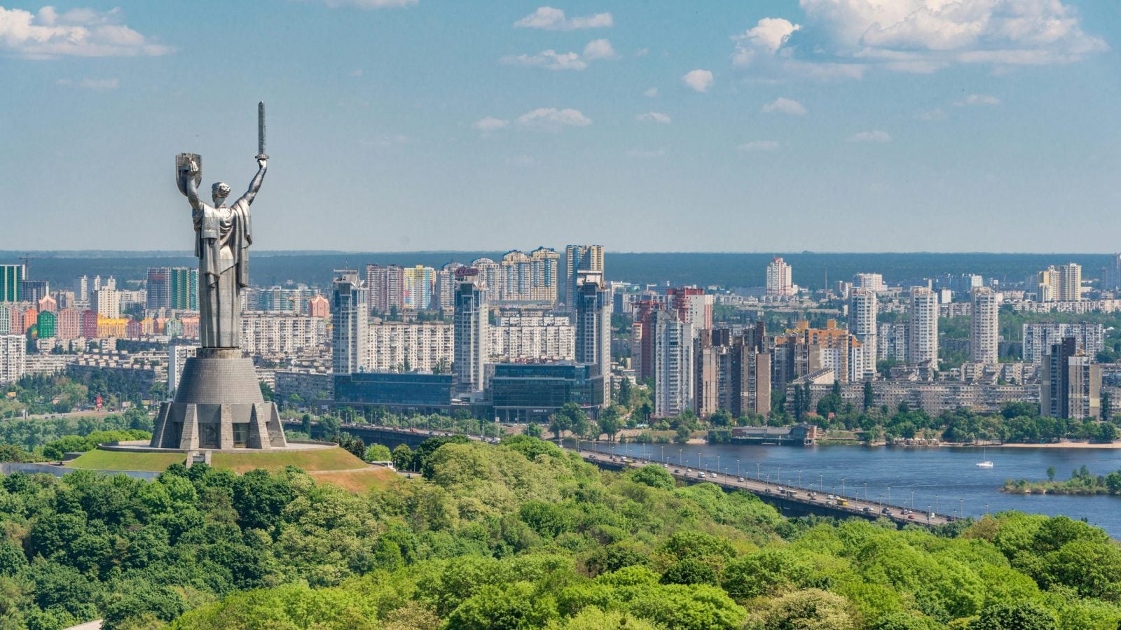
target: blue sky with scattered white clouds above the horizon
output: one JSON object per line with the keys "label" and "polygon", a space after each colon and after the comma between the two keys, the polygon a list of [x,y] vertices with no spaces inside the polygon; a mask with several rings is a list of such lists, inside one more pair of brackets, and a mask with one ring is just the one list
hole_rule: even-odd
{"label": "blue sky with scattered white clouds above the horizon", "polygon": [[[550,0],[552,1],[552,0]],[[1121,2],[0,0],[0,250],[1121,250]]]}

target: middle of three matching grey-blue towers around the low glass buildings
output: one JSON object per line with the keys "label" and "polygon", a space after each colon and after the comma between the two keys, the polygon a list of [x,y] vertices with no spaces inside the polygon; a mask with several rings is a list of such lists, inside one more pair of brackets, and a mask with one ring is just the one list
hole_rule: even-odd
{"label": "middle of three matching grey-blue towers around the low glass buildings", "polygon": [[481,286],[478,270],[463,267],[455,270],[455,276],[453,390],[456,397],[473,399],[481,396],[487,387],[484,364],[490,355],[490,309],[487,287]]}

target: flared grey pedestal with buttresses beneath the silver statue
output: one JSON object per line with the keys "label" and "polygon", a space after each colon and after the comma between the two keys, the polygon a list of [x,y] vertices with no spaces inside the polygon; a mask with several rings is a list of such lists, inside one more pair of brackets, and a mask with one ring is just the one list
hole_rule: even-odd
{"label": "flared grey pedestal with buttresses beneath the silver statue", "polygon": [[240,349],[201,348],[187,359],[175,400],[159,406],[155,448],[285,448],[276,404],[266,402]]}

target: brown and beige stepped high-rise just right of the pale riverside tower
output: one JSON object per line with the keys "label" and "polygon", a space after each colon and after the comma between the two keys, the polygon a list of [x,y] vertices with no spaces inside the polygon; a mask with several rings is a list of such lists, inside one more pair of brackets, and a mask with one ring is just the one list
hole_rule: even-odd
{"label": "brown and beige stepped high-rise just right of the pale riverside tower", "polygon": [[726,409],[735,417],[770,411],[770,353],[762,322],[741,335],[728,328],[701,331],[694,345],[694,411],[706,417]]}

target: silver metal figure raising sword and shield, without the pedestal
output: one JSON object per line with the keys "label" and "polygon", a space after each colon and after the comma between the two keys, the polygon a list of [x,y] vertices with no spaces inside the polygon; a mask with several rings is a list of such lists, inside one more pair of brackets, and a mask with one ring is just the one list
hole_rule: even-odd
{"label": "silver metal figure raising sword and shield, without the pedestal", "polygon": [[180,154],[176,160],[179,191],[191,202],[195,225],[195,256],[198,257],[198,337],[202,348],[241,348],[241,290],[249,286],[249,245],[253,243],[249,206],[253,203],[265,172],[265,103],[258,105],[257,175],[249,191],[226,206],[230,186],[214,184],[214,205],[198,197],[201,158]]}

